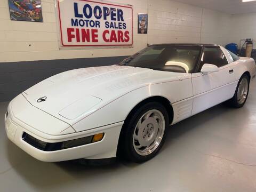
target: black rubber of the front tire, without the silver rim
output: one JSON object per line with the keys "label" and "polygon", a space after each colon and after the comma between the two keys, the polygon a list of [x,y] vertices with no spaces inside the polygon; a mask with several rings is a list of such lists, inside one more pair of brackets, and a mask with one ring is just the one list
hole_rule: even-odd
{"label": "black rubber of the front tire, without the silver rim", "polygon": [[[147,155],[147,156],[141,156],[139,155],[134,147],[133,147],[133,133],[135,130],[135,127],[137,125],[137,122],[139,121],[140,117],[145,114],[147,111],[152,110],[152,109],[156,109],[161,111],[161,113],[164,116],[165,119],[165,130],[164,130],[164,135],[163,135],[163,139],[160,143],[160,145],[157,147],[157,149],[155,149],[153,151],[153,153]],[[123,134],[123,139],[124,139],[124,148],[123,148],[123,153],[126,157],[126,159],[132,161],[132,162],[145,162],[148,161],[149,159],[153,158],[158,151],[162,148],[163,143],[165,141],[166,138],[166,133],[167,133],[167,129],[169,127],[169,116],[168,113],[165,109],[165,107],[158,102],[150,102],[150,103],[146,103],[145,105],[139,107],[137,110],[134,110],[133,113],[130,115],[130,117],[128,119],[126,119],[125,123],[124,123],[124,134]]]}

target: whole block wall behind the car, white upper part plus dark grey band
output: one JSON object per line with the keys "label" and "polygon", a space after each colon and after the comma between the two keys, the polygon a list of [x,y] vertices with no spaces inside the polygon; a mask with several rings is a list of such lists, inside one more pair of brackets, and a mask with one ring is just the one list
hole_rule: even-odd
{"label": "whole block wall behind the car, white upper part plus dark grey band", "polygon": [[[0,1],[0,102],[61,71],[117,63],[147,44],[228,39],[228,14],[169,0],[114,0],[133,5],[133,48],[59,50],[55,0],[41,1],[43,23],[11,21],[8,1]],[[148,35],[137,34],[137,13],[149,14]]]}

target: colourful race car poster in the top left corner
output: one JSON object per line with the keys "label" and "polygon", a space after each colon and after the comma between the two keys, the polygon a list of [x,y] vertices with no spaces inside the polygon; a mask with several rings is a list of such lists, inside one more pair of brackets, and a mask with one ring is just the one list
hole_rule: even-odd
{"label": "colourful race car poster in the top left corner", "polygon": [[11,20],[43,22],[41,0],[8,0]]}

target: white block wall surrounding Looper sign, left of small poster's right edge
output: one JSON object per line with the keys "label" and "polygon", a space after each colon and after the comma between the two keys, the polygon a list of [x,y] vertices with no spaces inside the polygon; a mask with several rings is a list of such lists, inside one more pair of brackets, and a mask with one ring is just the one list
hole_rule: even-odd
{"label": "white block wall surrounding Looper sign, left of small poster's right edge", "polygon": [[[43,23],[11,21],[7,2],[0,1],[0,62],[116,57],[131,55],[147,45],[147,36],[138,35],[134,27],[133,48],[59,50],[55,0],[41,0]],[[115,2],[133,5],[134,26],[137,26],[137,13],[147,13],[147,0]]]}

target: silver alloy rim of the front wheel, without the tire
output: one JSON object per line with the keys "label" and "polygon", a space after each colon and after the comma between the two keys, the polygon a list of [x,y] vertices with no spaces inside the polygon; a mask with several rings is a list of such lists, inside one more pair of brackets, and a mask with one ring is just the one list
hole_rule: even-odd
{"label": "silver alloy rim of the front wheel, without the tire", "polygon": [[161,111],[147,111],[140,117],[133,133],[135,151],[141,156],[153,153],[163,139],[164,130],[165,119]]}

